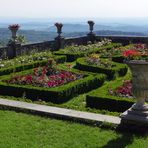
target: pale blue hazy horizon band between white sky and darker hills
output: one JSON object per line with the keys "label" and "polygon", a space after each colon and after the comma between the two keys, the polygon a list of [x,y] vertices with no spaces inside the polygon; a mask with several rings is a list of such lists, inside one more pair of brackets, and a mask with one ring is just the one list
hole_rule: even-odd
{"label": "pale blue hazy horizon band between white sky and darker hills", "polygon": [[77,17],[77,18],[65,18],[65,17],[55,17],[55,18],[39,18],[39,17],[1,17],[0,24],[8,24],[8,23],[54,23],[54,22],[62,22],[62,23],[87,23],[88,20],[93,20],[97,23],[118,23],[124,25],[148,25],[148,17],[106,17],[106,18],[86,18],[86,17]]}

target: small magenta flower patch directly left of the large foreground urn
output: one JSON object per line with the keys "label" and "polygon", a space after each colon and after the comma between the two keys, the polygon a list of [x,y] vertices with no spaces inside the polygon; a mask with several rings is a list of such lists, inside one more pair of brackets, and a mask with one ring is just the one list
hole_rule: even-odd
{"label": "small magenta flower patch directly left of the large foreground urn", "polygon": [[119,97],[133,98],[131,80],[124,81],[123,85],[116,90],[109,89],[109,93]]}

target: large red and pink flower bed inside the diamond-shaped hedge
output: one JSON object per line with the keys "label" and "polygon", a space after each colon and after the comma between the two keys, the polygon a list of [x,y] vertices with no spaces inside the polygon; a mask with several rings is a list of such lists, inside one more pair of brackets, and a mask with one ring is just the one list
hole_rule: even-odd
{"label": "large red and pink flower bed inside the diamond-shaped hedge", "polygon": [[56,87],[82,77],[83,75],[57,69],[56,63],[50,60],[46,66],[35,68],[32,74],[15,76],[6,82],[9,84]]}

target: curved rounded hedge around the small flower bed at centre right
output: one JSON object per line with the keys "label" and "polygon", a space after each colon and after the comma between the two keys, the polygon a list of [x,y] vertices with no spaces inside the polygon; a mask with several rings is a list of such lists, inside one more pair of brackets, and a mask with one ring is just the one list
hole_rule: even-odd
{"label": "curved rounded hedge around the small flower bed at centre right", "polygon": [[104,73],[107,75],[108,79],[113,79],[116,77],[116,75],[124,76],[127,73],[127,69],[128,69],[127,65],[116,63],[116,62],[113,62],[113,65],[115,65],[115,67],[108,69],[108,68],[103,68],[95,65],[88,65],[87,62],[85,61],[85,58],[79,58],[76,61],[77,69],[80,69],[83,71],[91,71],[94,73]]}

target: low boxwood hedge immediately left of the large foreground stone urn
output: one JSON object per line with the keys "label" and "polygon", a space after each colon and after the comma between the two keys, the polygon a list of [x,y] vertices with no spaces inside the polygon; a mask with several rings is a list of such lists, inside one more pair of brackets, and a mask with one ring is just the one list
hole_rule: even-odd
{"label": "low boxwood hedge immediately left of the large foreground stone urn", "polygon": [[[124,79],[129,79],[129,74],[126,75]],[[105,109],[108,111],[116,112],[123,112],[127,110],[133,105],[134,99],[113,96],[108,92],[109,88],[114,90],[122,84],[123,78],[118,78],[89,93],[86,96],[87,106],[91,108]]]}

